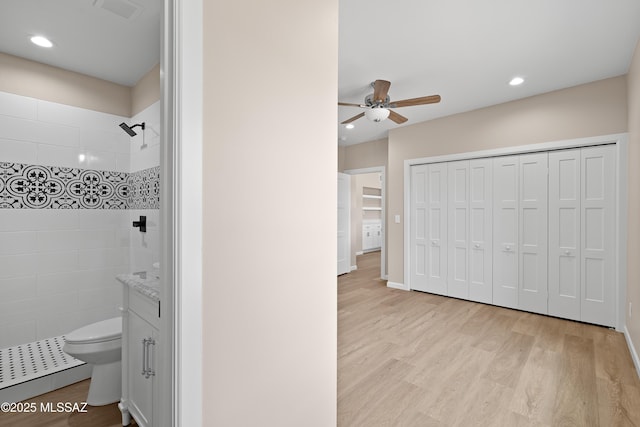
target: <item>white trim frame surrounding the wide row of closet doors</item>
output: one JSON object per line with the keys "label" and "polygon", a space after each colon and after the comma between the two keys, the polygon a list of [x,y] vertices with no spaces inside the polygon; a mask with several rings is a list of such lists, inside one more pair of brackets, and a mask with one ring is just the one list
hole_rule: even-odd
{"label": "white trim frame surrounding the wide row of closet doors", "polygon": [[483,157],[509,156],[527,154],[540,151],[565,150],[569,148],[591,147],[595,145],[616,145],[616,330],[623,332],[625,328],[625,313],[627,300],[627,159],[628,133],[594,136],[587,138],[567,139],[480,150],[467,153],[447,154],[442,156],[421,157],[404,161],[404,283],[398,288],[411,290],[411,167],[427,163],[451,162],[456,160],[471,160]]}

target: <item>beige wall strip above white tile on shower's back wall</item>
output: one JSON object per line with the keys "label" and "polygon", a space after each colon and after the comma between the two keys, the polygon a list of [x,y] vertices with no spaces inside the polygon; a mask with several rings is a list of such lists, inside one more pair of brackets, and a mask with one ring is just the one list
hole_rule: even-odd
{"label": "beige wall strip above white tile on shower's back wall", "polygon": [[0,53],[0,91],[131,117],[131,88]]}

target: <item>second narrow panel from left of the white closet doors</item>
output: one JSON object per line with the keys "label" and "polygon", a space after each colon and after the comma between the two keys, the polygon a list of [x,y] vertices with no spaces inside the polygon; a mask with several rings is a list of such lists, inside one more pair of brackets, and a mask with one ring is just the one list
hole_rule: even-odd
{"label": "second narrow panel from left of the white closet doors", "polygon": [[447,295],[447,165],[428,167],[428,292]]}

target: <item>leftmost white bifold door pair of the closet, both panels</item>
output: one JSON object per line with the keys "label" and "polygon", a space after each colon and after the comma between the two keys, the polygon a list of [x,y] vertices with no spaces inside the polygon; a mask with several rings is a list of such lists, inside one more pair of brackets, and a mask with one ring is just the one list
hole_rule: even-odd
{"label": "leftmost white bifold door pair of the closet, both panels", "polygon": [[411,288],[447,295],[447,165],[411,168]]}

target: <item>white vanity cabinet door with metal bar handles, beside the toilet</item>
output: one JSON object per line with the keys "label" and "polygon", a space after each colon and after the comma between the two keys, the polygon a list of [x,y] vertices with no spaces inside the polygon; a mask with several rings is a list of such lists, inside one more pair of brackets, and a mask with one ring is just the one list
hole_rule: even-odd
{"label": "white vanity cabinet door with metal bar handles, beside the toilet", "polygon": [[[147,360],[151,364],[156,363],[154,357],[147,358],[144,339],[153,338],[155,329],[141,319],[135,312],[129,311],[129,411],[140,426],[151,426],[153,423],[153,389],[155,377],[146,378],[143,374],[143,365]],[[151,356],[156,354],[156,348],[148,346]]]}

